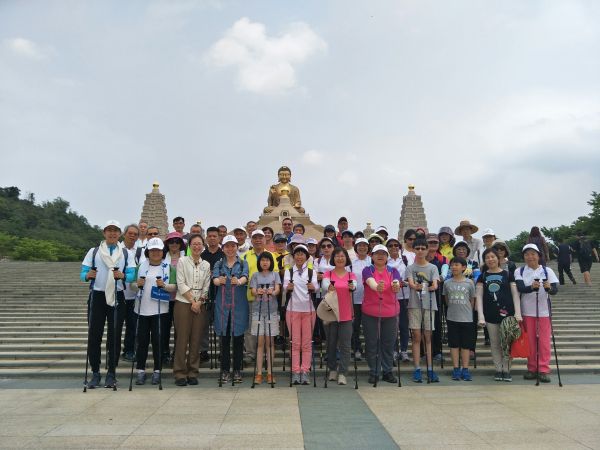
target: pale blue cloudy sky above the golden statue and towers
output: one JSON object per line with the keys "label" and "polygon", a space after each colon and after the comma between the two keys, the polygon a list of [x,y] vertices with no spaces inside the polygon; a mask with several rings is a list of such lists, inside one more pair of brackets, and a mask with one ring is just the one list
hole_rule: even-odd
{"label": "pale blue cloudy sky above the golden statue and towers", "polygon": [[314,221],[511,238],[600,190],[592,1],[0,3],[1,185],[92,223],[256,219],[277,168]]}

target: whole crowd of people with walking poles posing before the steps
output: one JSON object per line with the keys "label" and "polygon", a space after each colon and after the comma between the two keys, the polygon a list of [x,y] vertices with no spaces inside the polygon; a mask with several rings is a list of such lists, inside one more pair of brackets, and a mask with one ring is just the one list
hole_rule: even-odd
{"label": "whole crowd of people with walking poles posing before the steps", "polygon": [[[410,361],[409,342],[413,382],[439,382],[434,363],[443,360],[444,345],[452,380],[471,381],[480,329],[496,381],[512,381],[511,344],[524,331],[524,378],[550,382],[550,296],[564,283],[563,272],[575,280],[561,247],[560,280],[547,267],[548,246],[537,227],[517,267],[506,242],[491,229],[474,237],[478,227],[468,220],[438,233],[409,229],[401,239],[383,226],[368,236],[352,232],[345,217],[337,225],[327,225],[317,240],[305,238],[304,226],[290,218],[281,230],[250,221],[231,232],[220,225],[204,233],[195,224],[186,233],[185,220],[176,217],[163,241],[159,235],[167,230],[152,224],[122,229],[108,221],[104,240],[88,251],[80,274],[90,284],[86,388],[116,388],[120,358],[132,364],[130,387],[133,379],[145,384],[150,343],[152,384],[162,388],[163,367],[172,365],[177,386],[196,385],[200,364],[212,364],[217,354],[213,333],[219,385],[241,383],[246,363],[253,387],[265,381],[273,386],[276,347],[283,350],[284,370],[289,353],[290,385],[310,384],[311,376],[316,385],[315,354],[323,345],[325,383],[347,384],[352,362],[358,383],[356,362],[363,358],[369,383],[399,383],[394,368]],[[598,259],[595,249],[590,253]],[[589,283],[590,268],[584,259]]]}

